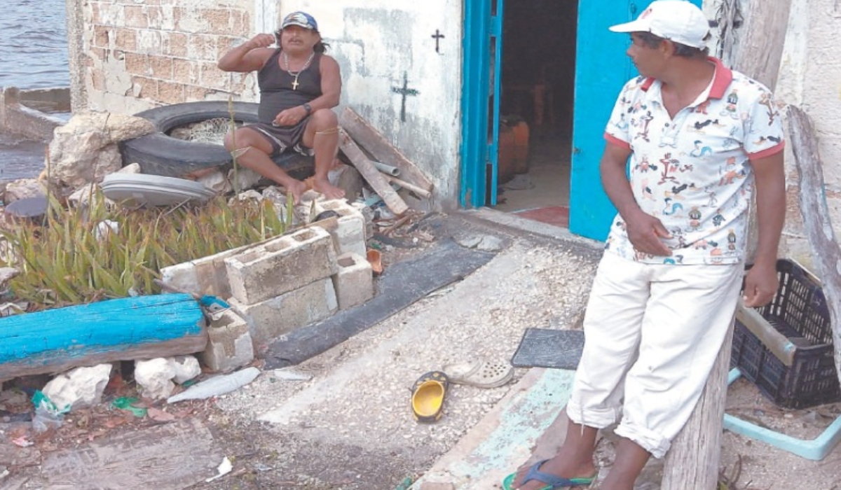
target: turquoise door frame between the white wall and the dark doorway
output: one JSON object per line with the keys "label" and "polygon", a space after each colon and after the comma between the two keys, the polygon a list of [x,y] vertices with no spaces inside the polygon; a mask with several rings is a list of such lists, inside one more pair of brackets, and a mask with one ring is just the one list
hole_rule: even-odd
{"label": "turquoise door frame between the white wall and the dark doorway", "polygon": [[[495,7],[495,8],[494,8]],[[502,13],[504,0],[464,0],[461,192],[464,208],[496,203],[498,141],[500,132],[500,70],[502,60]],[[495,46],[491,50],[491,45]],[[493,106],[490,85],[493,80]],[[489,113],[489,108],[492,111]],[[488,129],[491,138],[488,141]],[[490,169],[490,185],[488,171]],[[488,195],[490,188],[490,196]]]}

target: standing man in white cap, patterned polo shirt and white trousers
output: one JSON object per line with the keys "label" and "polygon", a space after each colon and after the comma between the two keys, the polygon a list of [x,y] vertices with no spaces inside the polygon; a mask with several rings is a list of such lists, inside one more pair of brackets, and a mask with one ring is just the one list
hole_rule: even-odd
{"label": "standing man in white cap, patterned polo shirt and white trousers", "polygon": [[743,300],[757,307],[776,292],[785,174],[769,90],[707,57],[709,26],[689,2],[658,0],[611,30],[631,35],[641,75],[616,101],[600,163],[619,213],[587,306],[566,439],[506,489],[589,484],[596,433],[619,420],[600,490],[632,490],[648,458],[666,454],[733,320],[754,187],[759,247]]}

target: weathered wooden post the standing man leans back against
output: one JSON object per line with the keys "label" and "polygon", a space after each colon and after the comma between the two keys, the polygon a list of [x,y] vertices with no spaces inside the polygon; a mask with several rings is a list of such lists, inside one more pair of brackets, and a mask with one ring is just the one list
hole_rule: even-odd
{"label": "weathered wooden post the standing man leans back against", "polygon": [[[768,4],[761,0],[743,4],[746,22],[739,36],[733,68],[774,90],[780,72],[791,0],[775,0],[774,8],[768,8]],[[745,250],[748,261],[755,256],[757,240],[755,206],[751,209]],[[672,448],[666,456],[661,490],[715,490],[717,487],[732,344],[731,328],[706,380],[701,399],[690,420],[672,441]]]}

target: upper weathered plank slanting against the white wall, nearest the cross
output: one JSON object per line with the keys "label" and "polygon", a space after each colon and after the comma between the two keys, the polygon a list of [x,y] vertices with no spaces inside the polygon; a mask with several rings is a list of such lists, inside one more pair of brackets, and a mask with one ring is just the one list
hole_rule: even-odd
{"label": "upper weathered plank slanting against the white wall, nearest the cross", "polygon": [[421,169],[394,148],[383,134],[374,129],[368,121],[362,119],[362,116],[352,108],[345,108],[339,117],[339,124],[341,124],[342,129],[347,131],[347,134],[350,134],[354,140],[362,145],[362,148],[370,151],[375,160],[399,168],[402,180],[413,183],[425,191],[432,190],[432,182]]}

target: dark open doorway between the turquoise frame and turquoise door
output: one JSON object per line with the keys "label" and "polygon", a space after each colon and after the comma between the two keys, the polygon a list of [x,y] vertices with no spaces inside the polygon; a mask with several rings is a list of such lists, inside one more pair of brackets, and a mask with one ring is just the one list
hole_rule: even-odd
{"label": "dark open doorway between the turquoise frame and turquoise door", "polygon": [[506,0],[496,209],[569,226],[577,0]]}

